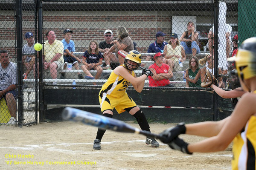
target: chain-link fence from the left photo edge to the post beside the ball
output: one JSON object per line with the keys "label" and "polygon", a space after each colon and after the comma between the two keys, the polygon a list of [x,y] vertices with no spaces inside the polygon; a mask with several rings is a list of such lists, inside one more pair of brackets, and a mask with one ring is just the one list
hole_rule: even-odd
{"label": "chain-link fence from the left photo edge to the post beside the ball", "polygon": [[[4,0],[1,1],[0,8],[0,124],[36,124],[37,85],[35,81],[32,84],[26,83],[27,78],[34,78],[32,69],[35,65],[34,43],[37,37],[35,0],[26,0],[23,3]],[[21,41],[17,36],[20,32],[17,30],[22,30]],[[19,52],[22,55],[20,58]],[[18,69],[18,66],[21,66],[21,69]],[[23,83],[18,83],[19,78]],[[17,113],[20,116],[17,116]]]}

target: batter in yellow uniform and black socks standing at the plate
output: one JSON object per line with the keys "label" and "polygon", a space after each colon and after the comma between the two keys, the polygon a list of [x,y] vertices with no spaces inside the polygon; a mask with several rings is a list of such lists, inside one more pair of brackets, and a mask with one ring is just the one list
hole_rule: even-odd
{"label": "batter in yellow uniform and black socks standing at the plate", "polygon": [[[128,55],[125,57],[125,63],[116,67],[111,72],[108,81],[103,84],[99,92],[99,103],[103,116],[112,118],[114,108],[119,114],[127,111],[136,118],[142,130],[150,131],[143,111],[137,107],[132,98],[126,93],[126,89],[130,84],[132,84],[137,92],[141,92],[145,79],[152,73],[149,69],[143,69],[142,75],[137,78],[134,70],[140,66],[140,63],[140,52],[128,52]],[[93,149],[101,149],[100,143],[105,131],[100,128],[98,129]],[[151,137],[147,137],[145,143],[151,144],[152,147],[159,147],[159,143]]]}

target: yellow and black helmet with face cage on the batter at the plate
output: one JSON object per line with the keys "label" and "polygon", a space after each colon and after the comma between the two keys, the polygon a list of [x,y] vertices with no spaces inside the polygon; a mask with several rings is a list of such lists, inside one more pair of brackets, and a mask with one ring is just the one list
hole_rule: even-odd
{"label": "yellow and black helmet with face cage on the batter at the plate", "polygon": [[[137,63],[136,65],[132,65],[130,63],[128,63],[129,61],[133,61],[134,63]],[[132,71],[132,70],[136,70],[141,63],[141,54],[140,52],[137,52],[135,50],[128,52],[128,55],[126,55],[125,57],[125,68]]]}

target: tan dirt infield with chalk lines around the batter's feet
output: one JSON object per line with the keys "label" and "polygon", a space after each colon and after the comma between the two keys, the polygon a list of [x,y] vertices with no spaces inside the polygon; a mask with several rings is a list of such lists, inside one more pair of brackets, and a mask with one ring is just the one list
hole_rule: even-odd
{"label": "tan dirt infield with chalk lines around the batter's feet", "polygon": [[[131,126],[139,127],[133,122]],[[160,133],[173,124],[150,124]],[[145,144],[145,137],[107,131],[102,149],[93,150],[97,128],[75,122],[43,123],[33,127],[0,127],[0,168],[12,170],[230,170],[231,147],[192,156]],[[202,138],[183,135],[188,142]]]}

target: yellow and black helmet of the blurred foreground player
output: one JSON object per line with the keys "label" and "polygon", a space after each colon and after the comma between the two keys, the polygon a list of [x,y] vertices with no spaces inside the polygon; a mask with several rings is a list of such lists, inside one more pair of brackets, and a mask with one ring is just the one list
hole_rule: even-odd
{"label": "yellow and black helmet of the blurred foreground player", "polygon": [[[241,44],[236,57],[229,58],[228,61],[235,61],[236,72],[239,80],[253,78],[256,76],[256,37],[251,37]],[[246,86],[247,90],[248,87]]]}

